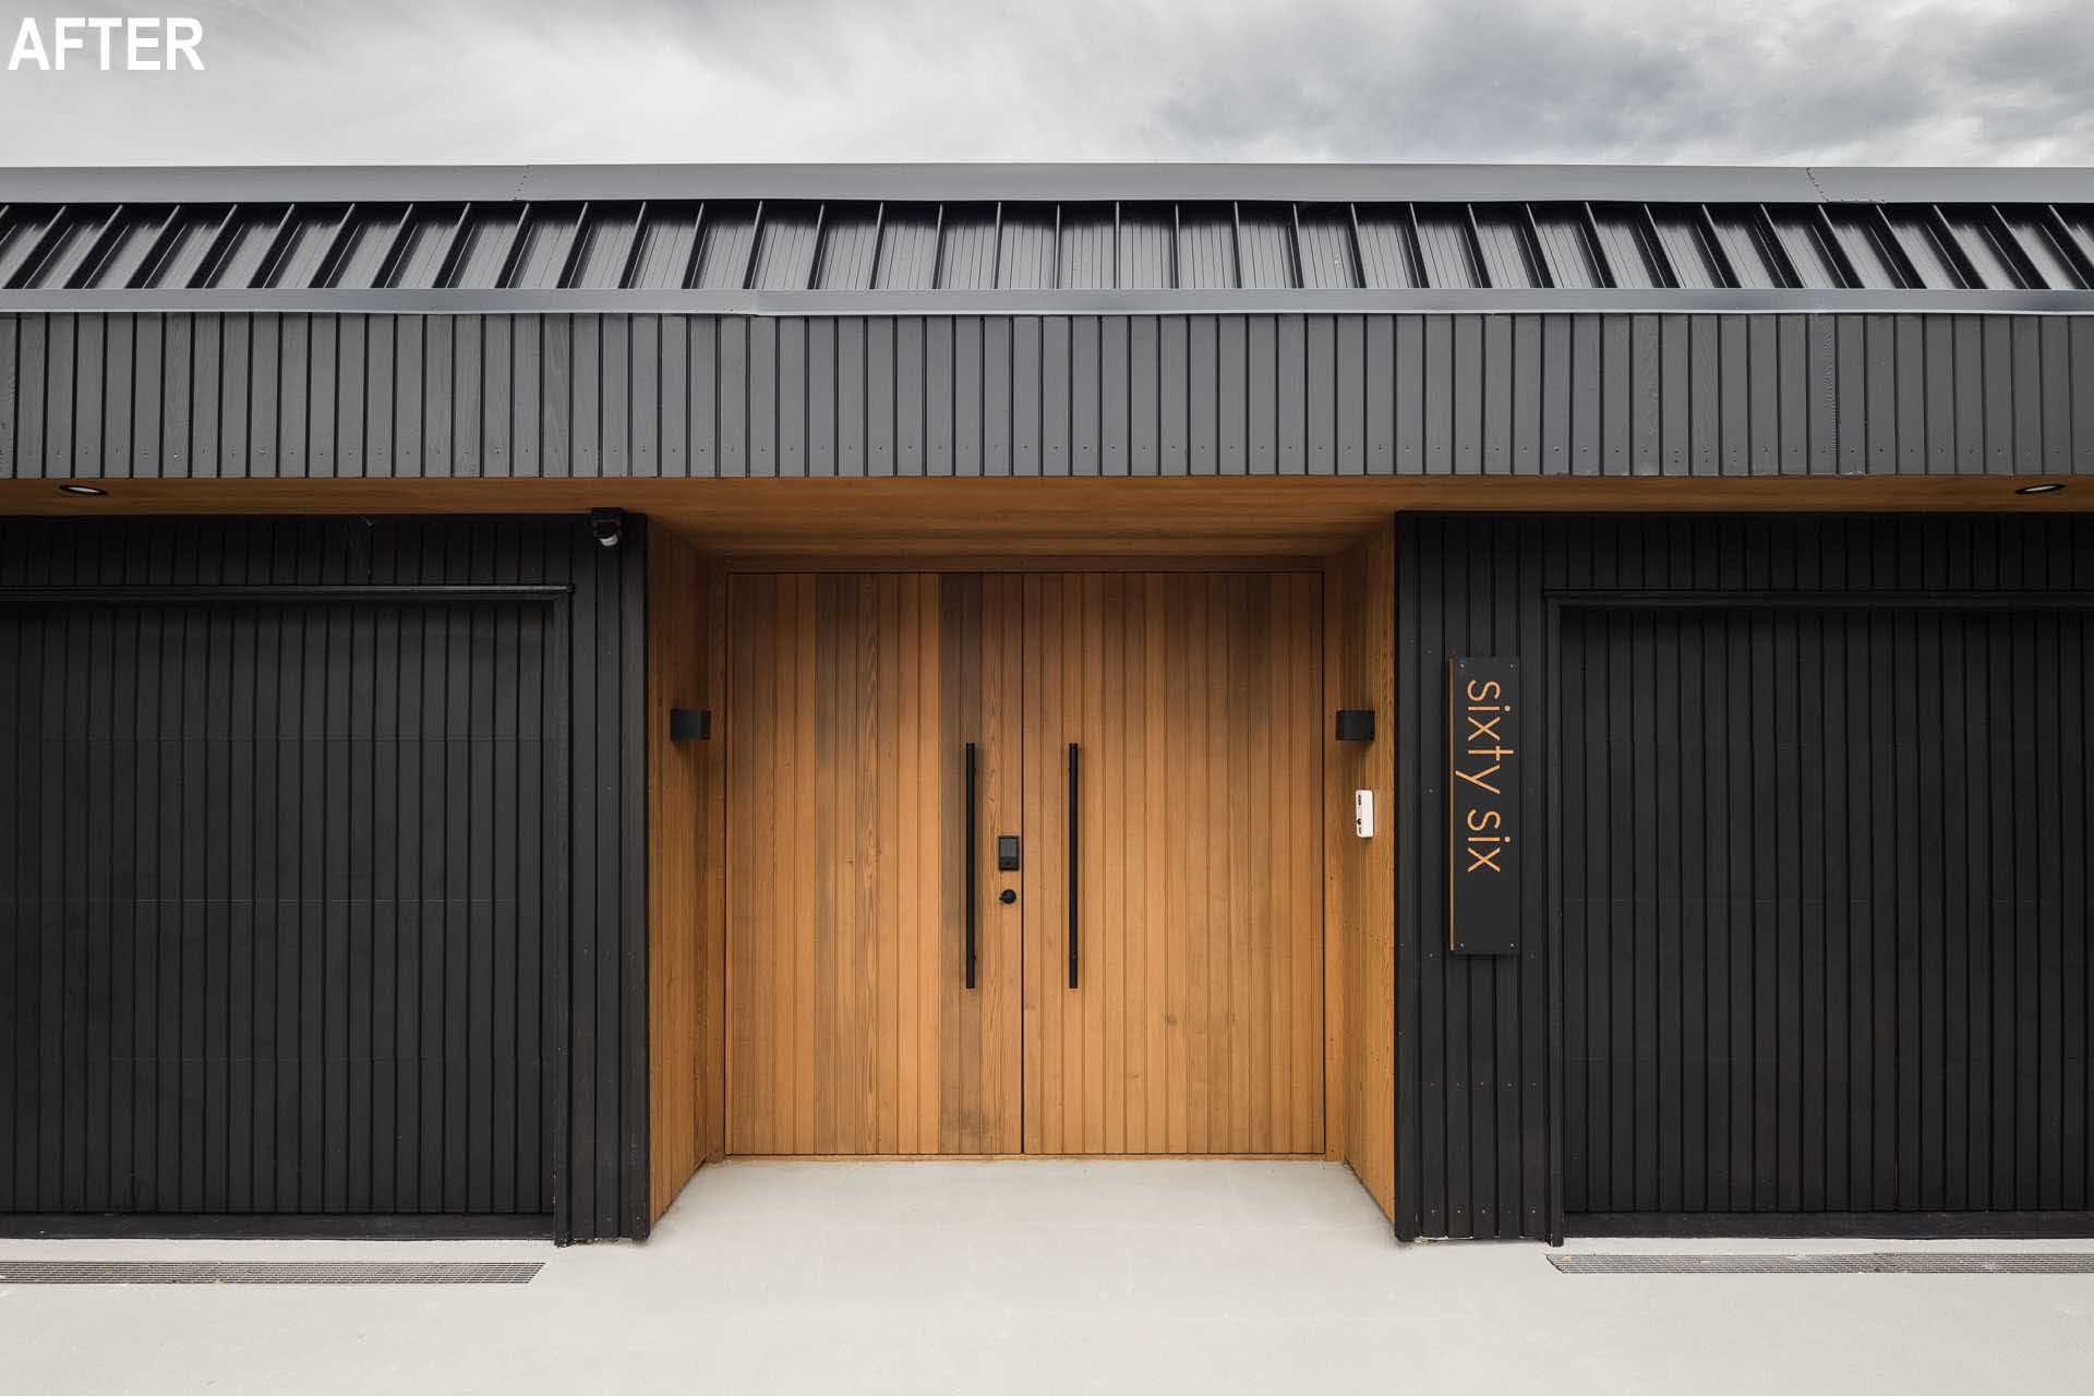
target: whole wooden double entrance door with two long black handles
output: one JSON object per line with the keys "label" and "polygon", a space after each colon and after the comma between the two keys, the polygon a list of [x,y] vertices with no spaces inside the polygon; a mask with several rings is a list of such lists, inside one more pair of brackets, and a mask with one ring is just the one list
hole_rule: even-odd
{"label": "whole wooden double entrance door with two long black handles", "polygon": [[729,607],[731,1153],[1323,1151],[1319,576]]}

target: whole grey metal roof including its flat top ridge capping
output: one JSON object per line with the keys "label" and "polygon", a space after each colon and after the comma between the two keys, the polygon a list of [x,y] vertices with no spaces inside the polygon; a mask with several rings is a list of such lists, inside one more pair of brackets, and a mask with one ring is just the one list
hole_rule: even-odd
{"label": "whole grey metal roof including its flat top ridge capping", "polygon": [[0,310],[2094,310],[2094,170],[0,170]]}

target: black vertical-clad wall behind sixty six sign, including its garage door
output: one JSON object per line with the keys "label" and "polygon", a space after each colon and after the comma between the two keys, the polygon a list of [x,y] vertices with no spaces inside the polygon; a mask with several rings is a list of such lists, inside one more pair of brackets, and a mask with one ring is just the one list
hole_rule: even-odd
{"label": "black vertical-clad wall behind sixty six sign, including its garage door", "polygon": [[[2088,1206],[2086,611],[2006,599],[2086,601],[2094,525],[1397,527],[1401,1233]],[[1529,674],[1512,956],[1447,952],[1455,653]]]}

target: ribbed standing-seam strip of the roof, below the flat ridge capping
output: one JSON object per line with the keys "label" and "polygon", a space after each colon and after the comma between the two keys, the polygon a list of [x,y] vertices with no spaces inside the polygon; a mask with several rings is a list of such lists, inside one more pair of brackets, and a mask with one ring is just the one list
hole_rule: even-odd
{"label": "ribbed standing-seam strip of the roof, below the flat ridge capping", "polygon": [[[1072,299],[1097,291],[1568,289],[1596,293],[1591,308],[1604,310],[1610,289],[2086,291],[2094,289],[2094,213],[2088,205],[1968,201],[1104,199],[0,209],[0,293],[75,289],[105,299],[188,289],[1066,291]],[[50,308],[50,297],[34,303]]]}

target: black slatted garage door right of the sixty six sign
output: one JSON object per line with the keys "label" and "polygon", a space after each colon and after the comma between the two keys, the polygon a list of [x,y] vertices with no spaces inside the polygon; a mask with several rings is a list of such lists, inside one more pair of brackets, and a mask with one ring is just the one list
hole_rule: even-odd
{"label": "black slatted garage door right of the sixty six sign", "polygon": [[1566,611],[1564,1206],[2090,1206],[2084,611]]}

